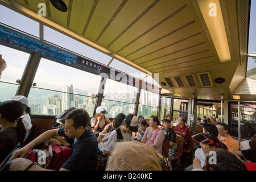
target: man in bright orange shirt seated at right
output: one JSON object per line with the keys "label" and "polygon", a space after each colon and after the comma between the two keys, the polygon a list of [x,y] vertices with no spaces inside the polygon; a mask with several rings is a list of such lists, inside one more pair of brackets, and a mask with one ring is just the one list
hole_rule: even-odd
{"label": "man in bright orange shirt seated at right", "polygon": [[218,139],[223,142],[230,152],[239,151],[240,147],[236,140],[234,140],[229,134],[229,127],[226,123],[217,123]]}

